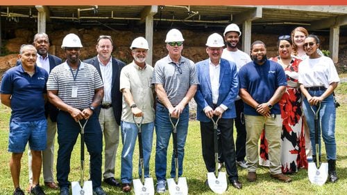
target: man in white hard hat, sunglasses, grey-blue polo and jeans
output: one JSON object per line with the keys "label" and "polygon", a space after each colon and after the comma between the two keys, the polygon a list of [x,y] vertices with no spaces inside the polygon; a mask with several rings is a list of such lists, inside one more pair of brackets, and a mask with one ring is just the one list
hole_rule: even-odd
{"label": "man in white hard hat, sunglasses, grey-blue polo and jeans", "polygon": [[[165,43],[169,55],[155,63],[152,84],[157,93],[155,109],[155,176],[157,192],[166,190],[167,147],[172,132],[169,117],[176,118],[178,145],[178,176],[183,174],[183,157],[189,122],[188,103],[194,97],[198,84],[194,62],[181,55],[183,35],[173,28],[167,32]],[[174,119],[174,122],[176,120]],[[171,159],[171,178],[175,177],[174,155]]]}

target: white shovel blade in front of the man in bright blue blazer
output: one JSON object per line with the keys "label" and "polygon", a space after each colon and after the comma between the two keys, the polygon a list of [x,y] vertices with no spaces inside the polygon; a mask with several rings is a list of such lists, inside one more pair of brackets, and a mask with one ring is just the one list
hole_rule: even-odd
{"label": "white shovel blade in front of the man in bright blue blazer", "polygon": [[214,175],[214,172],[208,173],[208,186],[216,194],[223,194],[228,188],[228,182],[226,180],[226,172],[219,172],[218,178]]}

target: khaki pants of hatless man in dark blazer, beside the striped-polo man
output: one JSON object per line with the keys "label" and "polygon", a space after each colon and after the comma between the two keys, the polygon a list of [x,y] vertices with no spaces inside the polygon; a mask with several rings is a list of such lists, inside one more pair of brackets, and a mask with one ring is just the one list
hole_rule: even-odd
{"label": "khaki pants of hatless man in dark blazer, beside the striped-polo man", "polygon": [[116,154],[119,144],[119,125],[115,120],[112,107],[101,109],[99,115],[101,131],[105,139],[105,166],[103,178],[115,177]]}

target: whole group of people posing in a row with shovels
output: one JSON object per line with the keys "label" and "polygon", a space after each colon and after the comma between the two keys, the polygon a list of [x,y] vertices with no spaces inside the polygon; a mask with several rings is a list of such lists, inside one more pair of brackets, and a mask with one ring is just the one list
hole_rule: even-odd
{"label": "whole group of people posing in a row with shovels", "polygon": [[[139,167],[139,176],[150,177],[155,131],[156,191],[165,192],[171,123],[177,122],[178,170],[173,154],[170,172],[174,178],[176,171],[178,176],[183,175],[192,98],[197,104],[205,167],[213,172],[224,165],[233,187],[242,189],[237,165],[248,170],[250,182],[257,180],[258,163],[269,166],[272,178],[286,183],[291,178],[285,174],[307,167],[307,155],[311,154],[305,152],[305,146],[315,145],[314,111],[317,109],[321,110],[319,118],[329,179],[335,182],[336,110],[332,93],[339,77],[332,60],[318,52],[319,38],[298,27],[291,35],[278,37],[279,56],[267,59],[262,41],[253,42],[251,57],[239,50],[241,35],[236,24],[226,26],[223,37],[213,33],[205,44],[208,59],[194,64],[182,55],[185,41],[182,33],[171,29],[165,39],[168,55],[159,59],[153,68],[146,63],[149,44],[144,37],[133,40],[130,45],[133,62],[126,65],[112,57],[113,42],[108,35],[99,36],[98,54],[84,61],[80,59],[81,39],[72,33],[66,35],[62,40],[66,61],[62,62],[48,53],[48,35],[37,33],[33,45],[21,46],[17,66],[10,68],[1,82],[1,103],[12,109],[8,151],[12,152],[13,194],[24,194],[19,186],[19,175],[27,142],[30,149],[28,191],[44,194],[39,183],[43,165],[44,185],[60,188],[62,195],[69,194],[71,151],[81,131],[79,122],[85,124],[93,192],[106,194],[101,187],[102,178],[108,185],[130,192],[137,122],[141,119],[144,173]],[[218,167],[214,162],[212,122],[217,118]],[[123,145],[120,183],[115,179],[119,131]],[[53,179],[56,132],[58,185]],[[310,147],[306,150],[312,151]],[[316,155],[320,158],[321,151],[319,154],[312,151],[313,160]]]}

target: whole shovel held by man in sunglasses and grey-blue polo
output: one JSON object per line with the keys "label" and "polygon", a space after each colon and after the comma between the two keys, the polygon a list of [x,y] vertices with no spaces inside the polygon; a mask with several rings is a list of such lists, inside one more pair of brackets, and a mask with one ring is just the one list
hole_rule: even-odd
{"label": "whole shovel held by man in sunglasses and grey-blue polo", "polygon": [[167,185],[169,187],[170,194],[188,194],[188,186],[186,178],[178,178],[178,149],[177,149],[177,124],[180,118],[177,118],[176,123],[172,122],[171,115],[169,113],[169,120],[171,122],[173,131],[172,138],[174,140],[174,160],[175,160],[175,178],[167,179]]}

